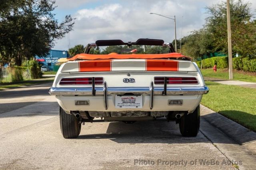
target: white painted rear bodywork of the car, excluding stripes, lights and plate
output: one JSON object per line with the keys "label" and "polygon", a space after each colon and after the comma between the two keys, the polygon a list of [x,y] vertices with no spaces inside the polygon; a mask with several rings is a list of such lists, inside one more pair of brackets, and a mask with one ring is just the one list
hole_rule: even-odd
{"label": "white painted rear bodywork of the car, excluding stripes, lights and plate", "polygon": [[[178,87],[180,89],[185,87],[206,87],[202,74],[196,63],[191,61],[178,61],[177,71],[147,71],[146,59],[111,59],[110,71],[81,71],[80,62],[86,61],[68,61],[60,66],[52,89],[49,93],[56,95],[54,89],[65,88],[80,88],[92,87],[92,85],[60,85],[59,82],[63,78],[82,78],[82,77],[103,77],[106,82],[107,88],[118,87],[150,87],[150,83],[154,82],[154,77],[195,77],[198,84],[167,84],[168,87]],[[162,60],[170,61],[170,60]],[[94,62],[94,61],[90,61]],[[177,61],[175,61],[177,62]],[[92,68],[93,69],[93,68]],[[130,74],[130,75],[129,75]],[[135,79],[134,83],[124,83],[124,78]],[[95,88],[103,88],[103,85],[95,85]],[[163,85],[154,84],[154,88],[163,87]],[[206,90],[205,93],[208,91]],[[97,95],[100,94],[100,95]],[[98,111],[98,112],[118,112],[118,111],[188,111],[191,113],[199,105],[202,94],[184,94],[184,95],[154,95],[153,105],[150,108],[150,95],[143,93],[142,101],[143,106],[140,109],[123,109],[115,107],[115,94],[108,94],[106,100],[108,107],[104,106],[104,96],[102,93],[96,95],[56,95],[56,99],[60,107],[67,113],[70,111]],[[183,100],[182,105],[168,105],[168,100]],[[89,100],[90,105],[75,105],[76,100]]]}

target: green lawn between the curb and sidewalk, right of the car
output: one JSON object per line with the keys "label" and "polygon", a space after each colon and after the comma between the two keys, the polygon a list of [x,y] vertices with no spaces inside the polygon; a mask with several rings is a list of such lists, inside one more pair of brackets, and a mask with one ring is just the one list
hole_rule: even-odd
{"label": "green lawn between the curb and sidewalk, right of the car", "polygon": [[256,132],[256,89],[206,81],[201,104]]}

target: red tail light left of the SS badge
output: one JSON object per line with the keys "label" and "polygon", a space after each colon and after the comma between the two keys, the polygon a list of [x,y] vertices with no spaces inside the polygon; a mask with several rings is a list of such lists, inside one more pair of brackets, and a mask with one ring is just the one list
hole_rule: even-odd
{"label": "red tail light left of the SS badge", "polygon": [[102,85],[103,77],[84,77],[84,78],[64,78],[60,80],[60,85]]}

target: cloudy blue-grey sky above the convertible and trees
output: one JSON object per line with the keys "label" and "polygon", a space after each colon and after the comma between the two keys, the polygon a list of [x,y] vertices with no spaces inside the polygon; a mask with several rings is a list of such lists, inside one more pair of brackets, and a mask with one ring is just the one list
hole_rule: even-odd
{"label": "cloudy blue-grey sky above the convertible and trees", "polygon": [[[256,0],[250,2],[252,11]],[[53,11],[61,22],[68,14],[76,18],[73,30],[56,40],[53,49],[68,50],[78,44],[87,45],[96,40],[120,39],[135,42],[139,38],[174,40],[176,16],[177,40],[202,28],[208,16],[206,7],[222,0],[56,0]],[[225,1],[226,2],[226,1]],[[69,38],[68,38],[69,37]]]}

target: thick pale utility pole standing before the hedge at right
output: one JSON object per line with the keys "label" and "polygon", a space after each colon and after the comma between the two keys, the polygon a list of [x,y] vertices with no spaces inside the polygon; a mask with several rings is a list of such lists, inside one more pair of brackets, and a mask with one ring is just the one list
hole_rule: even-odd
{"label": "thick pale utility pole standing before the hedge at right", "polygon": [[227,22],[228,22],[228,71],[229,79],[233,79],[233,61],[232,61],[232,42],[231,42],[231,24],[230,24],[230,3],[227,0]]}

